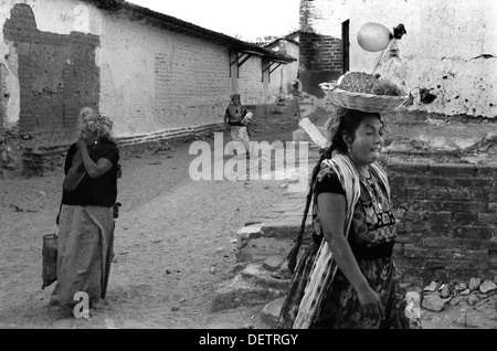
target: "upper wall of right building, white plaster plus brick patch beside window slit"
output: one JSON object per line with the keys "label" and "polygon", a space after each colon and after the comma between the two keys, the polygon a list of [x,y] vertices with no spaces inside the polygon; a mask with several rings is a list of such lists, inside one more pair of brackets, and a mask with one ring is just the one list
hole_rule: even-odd
{"label": "upper wall of right building, white plaster plus brick patch beside window slit", "polygon": [[377,73],[404,86],[411,111],[497,116],[497,4],[468,0],[303,0],[300,68],[304,88],[347,71],[371,73],[380,53],[362,50],[357,33],[367,22],[403,23],[402,63],[387,55]]}

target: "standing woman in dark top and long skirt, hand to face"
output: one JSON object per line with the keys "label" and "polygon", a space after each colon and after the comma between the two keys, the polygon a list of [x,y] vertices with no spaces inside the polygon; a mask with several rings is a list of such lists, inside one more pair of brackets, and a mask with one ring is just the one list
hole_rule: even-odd
{"label": "standing woman in dark top and long skirt, hand to face", "polygon": [[81,136],[65,159],[59,223],[57,284],[50,304],[70,312],[83,291],[105,298],[114,242],[119,151],[113,121],[92,108],[80,113]]}

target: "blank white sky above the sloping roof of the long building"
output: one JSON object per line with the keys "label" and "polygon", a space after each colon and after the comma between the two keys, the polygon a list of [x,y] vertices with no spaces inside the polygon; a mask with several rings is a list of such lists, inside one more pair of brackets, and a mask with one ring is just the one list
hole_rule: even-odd
{"label": "blank white sky above the sloping roof of the long building", "polygon": [[211,31],[256,41],[299,28],[300,0],[127,0]]}

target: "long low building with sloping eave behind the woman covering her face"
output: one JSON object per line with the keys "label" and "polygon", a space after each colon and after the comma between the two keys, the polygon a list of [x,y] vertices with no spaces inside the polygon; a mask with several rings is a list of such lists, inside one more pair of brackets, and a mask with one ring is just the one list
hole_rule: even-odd
{"label": "long low building with sloping eave behind the woman covering her face", "polygon": [[0,35],[0,130],[29,150],[73,141],[84,106],[127,145],[219,128],[233,93],[267,113],[296,61],[121,0],[4,2]]}

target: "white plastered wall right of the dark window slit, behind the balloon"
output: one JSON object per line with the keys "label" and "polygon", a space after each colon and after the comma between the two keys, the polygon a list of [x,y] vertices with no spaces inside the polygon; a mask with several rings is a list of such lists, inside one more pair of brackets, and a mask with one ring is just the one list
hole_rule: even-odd
{"label": "white plastered wall right of the dark window slit, behind the balloon", "polygon": [[[332,2],[332,1],[331,1]],[[406,35],[399,41],[404,62],[382,62],[377,71],[412,93],[413,110],[444,115],[497,117],[497,2],[493,0],[349,0],[350,71],[370,73],[379,53],[357,43],[366,22]],[[436,98],[424,104],[420,88]]]}

